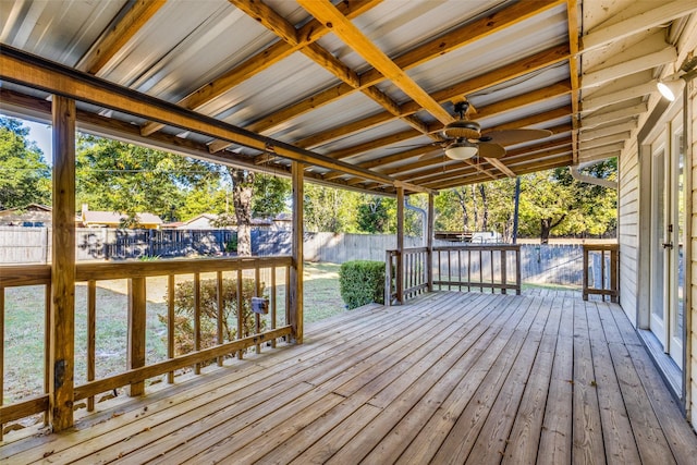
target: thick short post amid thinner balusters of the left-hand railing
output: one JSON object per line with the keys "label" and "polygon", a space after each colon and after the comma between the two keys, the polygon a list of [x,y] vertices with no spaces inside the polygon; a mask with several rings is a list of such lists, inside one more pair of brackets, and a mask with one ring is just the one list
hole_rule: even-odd
{"label": "thick short post amid thinner balusters of the left-hand railing", "polygon": [[[129,280],[129,346],[126,366],[129,369],[145,366],[145,278]],[[129,395],[135,397],[145,393],[143,381],[134,382]]]}

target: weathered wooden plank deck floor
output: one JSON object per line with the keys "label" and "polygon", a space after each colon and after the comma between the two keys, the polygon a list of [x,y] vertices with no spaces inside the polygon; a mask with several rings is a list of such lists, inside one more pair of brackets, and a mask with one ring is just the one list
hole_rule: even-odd
{"label": "weathered wooden plank deck floor", "polygon": [[694,464],[697,455],[620,308],[557,293],[439,292],[364,308],[310,326],[303,345],[100,408],[75,431],[5,444],[2,463]]}

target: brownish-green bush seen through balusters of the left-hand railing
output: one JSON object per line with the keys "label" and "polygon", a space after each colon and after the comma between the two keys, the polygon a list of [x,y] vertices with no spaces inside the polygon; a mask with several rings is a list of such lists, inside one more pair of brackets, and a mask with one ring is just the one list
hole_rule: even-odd
{"label": "brownish-green bush seen through balusters of the left-hand railing", "polygon": [[[212,347],[218,343],[218,281],[200,280],[200,347]],[[264,284],[259,290],[264,294]],[[255,281],[242,280],[242,338],[255,333],[255,317],[252,311],[252,297],[255,295]],[[237,282],[222,280],[222,334],[223,341],[233,341],[237,335]],[[158,315],[167,323],[167,315]],[[176,354],[186,354],[194,350],[194,282],[184,281],[174,289],[174,345]],[[260,330],[266,328],[261,320]]]}

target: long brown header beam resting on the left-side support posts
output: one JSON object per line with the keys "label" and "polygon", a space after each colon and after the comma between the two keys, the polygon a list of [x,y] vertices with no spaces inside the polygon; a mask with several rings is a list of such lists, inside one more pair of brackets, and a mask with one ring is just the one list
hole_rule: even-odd
{"label": "long brown header beam resting on the left-side support posts", "polygon": [[[252,133],[4,45],[0,45],[0,78],[75,100],[112,108],[147,120],[160,121],[212,138],[227,139],[261,151],[271,146],[280,157],[329,170],[344,171],[347,174],[386,185],[392,185],[394,181],[390,176]],[[419,186],[407,186],[406,188],[413,192],[424,192]]]}

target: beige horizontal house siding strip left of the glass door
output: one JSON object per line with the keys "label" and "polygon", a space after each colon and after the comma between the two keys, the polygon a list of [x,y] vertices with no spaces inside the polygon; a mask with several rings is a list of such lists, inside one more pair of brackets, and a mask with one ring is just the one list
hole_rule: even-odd
{"label": "beige horizontal house siding strip left of the glass door", "polygon": [[619,160],[620,303],[636,327],[638,267],[639,163],[636,138]]}

